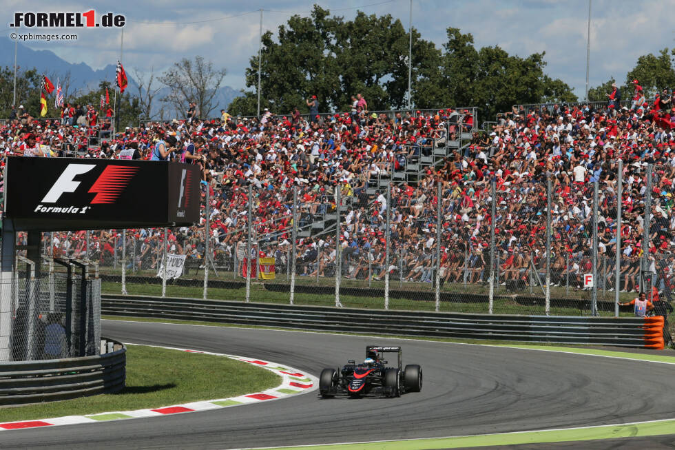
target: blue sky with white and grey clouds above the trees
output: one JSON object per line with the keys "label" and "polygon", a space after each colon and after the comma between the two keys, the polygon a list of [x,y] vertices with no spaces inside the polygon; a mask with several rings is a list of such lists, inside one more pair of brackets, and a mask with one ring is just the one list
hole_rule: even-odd
{"label": "blue sky with white and grey clouds above the trees", "polygon": [[[350,19],[360,8],[368,14],[392,14],[408,26],[409,0],[318,1],[337,15]],[[15,11],[112,11],[125,14],[123,63],[127,72],[156,72],[182,57],[201,54],[227,69],[225,84],[244,88],[244,70],[258,52],[260,8],[263,30],[276,32],[291,16],[307,15],[312,1],[47,1],[3,0],[4,22]],[[26,5],[30,4],[30,7]],[[339,11],[336,8],[340,8]],[[354,9],[344,9],[354,8]],[[231,19],[220,17],[238,16]],[[610,76],[623,81],[641,54],[675,46],[675,0],[592,0],[590,86]],[[413,27],[424,39],[439,47],[446,41],[446,28],[470,32],[477,47],[499,45],[512,54],[526,56],[546,51],[546,72],[575,88],[585,90],[586,27],[588,0],[413,0]],[[205,21],[203,23],[189,23]],[[9,31],[4,31],[9,34]],[[25,43],[34,49],[52,50],[72,63],[92,68],[115,63],[120,54],[120,30],[78,30],[70,43]]]}

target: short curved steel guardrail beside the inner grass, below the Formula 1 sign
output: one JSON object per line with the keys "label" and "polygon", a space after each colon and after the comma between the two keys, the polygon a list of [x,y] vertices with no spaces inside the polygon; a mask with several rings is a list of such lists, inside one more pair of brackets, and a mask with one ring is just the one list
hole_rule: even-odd
{"label": "short curved steel guardrail beside the inner grass, below the Formula 1 sign", "polygon": [[[126,378],[126,351],[120,342],[101,339],[105,354],[0,362],[0,405],[68,400],[121,391]],[[112,345],[111,345],[112,344]]]}

